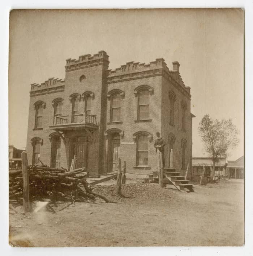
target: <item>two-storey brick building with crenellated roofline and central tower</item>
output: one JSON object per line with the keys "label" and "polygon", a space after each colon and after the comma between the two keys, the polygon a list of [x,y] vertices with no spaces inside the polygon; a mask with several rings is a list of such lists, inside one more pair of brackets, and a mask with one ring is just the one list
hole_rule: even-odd
{"label": "two-storey brick building with crenellated roofline and central tower", "polygon": [[190,87],[163,58],[149,64],[127,62],[109,70],[105,51],[67,59],[65,80],[31,84],[27,132],[29,164],[38,158],[52,167],[85,166],[111,172],[117,157],[127,171],[156,170],[156,131],[166,141],[165,163],[184,172],[192,166]]}

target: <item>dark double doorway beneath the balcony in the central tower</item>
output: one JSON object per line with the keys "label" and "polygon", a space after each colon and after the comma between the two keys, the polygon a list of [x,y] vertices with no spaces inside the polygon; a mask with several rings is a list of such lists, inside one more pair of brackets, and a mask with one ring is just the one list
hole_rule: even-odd
{"label": "dark double doorway beneath the balcony in the central tower", "polygon": [[73,137],[70,142],[70,158],[69,166],[71,165],[72,159],[76,155],[76,164],[74,169],[85,167],[88,168],[88,153],[89,153],[89,141],[88,137],[80,136]]}

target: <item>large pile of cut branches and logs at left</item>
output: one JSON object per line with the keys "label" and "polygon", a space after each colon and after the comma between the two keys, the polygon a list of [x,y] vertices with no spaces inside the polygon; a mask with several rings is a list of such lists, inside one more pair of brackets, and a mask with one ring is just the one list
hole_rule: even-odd
{"label": "large pile of cut branches and logs at left", "polygon": [[[52,203],[57,201],[87,201],[95,197],[107,198],[96,194],[86,181],[88,173],[85,168],[68,172],[67,169],[49,168],[47,165],[28,166],[30,200],[49,198]],[[22,170],[9,172],[9,200],[20,203],[23,200]]]}

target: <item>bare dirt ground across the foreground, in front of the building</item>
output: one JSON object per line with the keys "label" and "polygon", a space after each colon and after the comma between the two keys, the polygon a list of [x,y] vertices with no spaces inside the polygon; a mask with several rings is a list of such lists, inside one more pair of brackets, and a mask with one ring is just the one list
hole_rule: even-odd
{"label": "bare dirt ground across the foreground, in front of the building", "polygon": [[[129,182],[129,181],[128,181]],[[113,182],[110,181],[111,184]],[[61,203],[21,214],[10,208],[9,243],[29,247],[240,246],[244,243],[243,180],[194,186],[194,193],[158,184],[95,186],[115,203]],[[66,208],[64,208],[66,207]],[[63,210],[61,210],[63,209]]]}

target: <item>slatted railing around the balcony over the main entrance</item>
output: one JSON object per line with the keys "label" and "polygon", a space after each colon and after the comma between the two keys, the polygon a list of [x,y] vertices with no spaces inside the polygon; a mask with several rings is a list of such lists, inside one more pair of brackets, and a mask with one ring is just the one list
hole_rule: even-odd
{"label": "slatted railing around the balcony over the main entrance", "polygon": [[91,124],[97,125],[97,118],[95,115],[88,115],[86,113],[76,115],[56,115],[54,116],[53,125],[67,125],[67,124]]}

